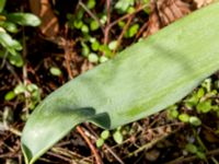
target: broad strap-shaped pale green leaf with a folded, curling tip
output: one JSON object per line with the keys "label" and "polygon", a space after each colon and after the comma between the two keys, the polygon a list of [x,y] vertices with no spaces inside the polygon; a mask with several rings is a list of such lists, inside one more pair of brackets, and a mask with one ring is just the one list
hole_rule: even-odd
{"label": "broad strap-shaped pale green leaf with a folded, curling tip", "polygon": [[26,163],[82,121],[112,129],[183,98],[219,69],[218,11],[201,9],[50,94],[23,130]]}

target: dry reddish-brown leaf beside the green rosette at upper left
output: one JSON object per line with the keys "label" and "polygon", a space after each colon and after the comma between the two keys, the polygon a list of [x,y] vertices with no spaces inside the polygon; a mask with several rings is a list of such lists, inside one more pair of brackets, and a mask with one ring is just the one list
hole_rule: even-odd
{"label": "dry reddish-brown leaf beside the green rosette at upper left", "polygon": [[39,30],[48,39],[55,38],[59,32],[58,19],[54,14],[49,0],[30,0],[30,7],[41,20]]}

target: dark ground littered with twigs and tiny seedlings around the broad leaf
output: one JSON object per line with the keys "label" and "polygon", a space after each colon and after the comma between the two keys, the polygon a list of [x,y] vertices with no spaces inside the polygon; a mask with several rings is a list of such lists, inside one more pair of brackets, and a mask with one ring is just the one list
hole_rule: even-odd
{"label": "dark ground littered with twigs and tiny seedlings around the broad leaf", "polygon": [[[65,2],[46,1],[44,10],[49,19],[41,15],[43,24],[39,28],[21,27],[13,35],[23,45],[21,54],[25,63],[21,68],[0,59],[0,163],[23,163],[21,131],[33,108],[41,102],[38,97],[43,99],[68,80],[208,3],[162,0],[149,8],[148,2],[140,0]],[[9,0],[5,10],[41,13],[35,7],[26,0]],[[50,28],[49,20],[55,20]],[[97,23],[91,25],[93,21]],[[25,91],[7,101],[7,93],[18,89],[19,84],[35,84],[37,89],[34,93]],[[197,95],[203,104],[207,102],[209,105],[210,101],[206,113],[198,112],[201,107],[193,104]],[[215,73],[169,110],[110,131],[104,144],[95,151],[106,164],[218,164],[218,106],[219,73]],[[178,117],[182,114],[196,116],[201,124],[187,124]],[[73,130],[36,163],[96,163],[83,136],[95,147],[103,130],[91,124],[82,124],[80,128],[83,133]],[[119,133],[117,139],[114,138],[115,132]]]}

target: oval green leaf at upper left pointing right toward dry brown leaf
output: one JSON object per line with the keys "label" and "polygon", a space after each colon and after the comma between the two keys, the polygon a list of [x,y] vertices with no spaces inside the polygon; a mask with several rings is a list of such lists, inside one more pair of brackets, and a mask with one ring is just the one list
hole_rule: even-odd
{"label": "oval green leaf at upper left pointing right toward dry brown leaf", "polygon": [[32,13],[10,13],[7,15],[7,20],[20,25],[38,26],[41,24],[41,20]]}

